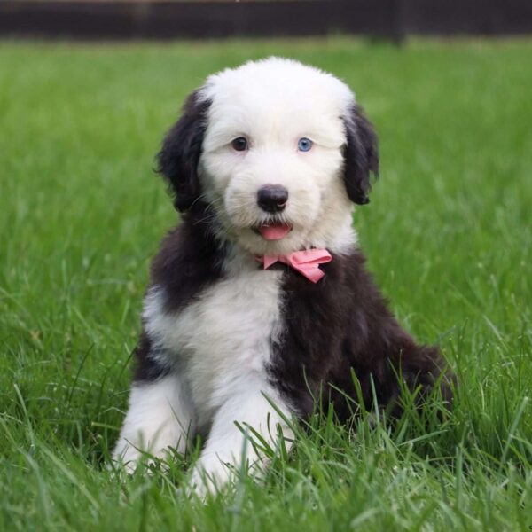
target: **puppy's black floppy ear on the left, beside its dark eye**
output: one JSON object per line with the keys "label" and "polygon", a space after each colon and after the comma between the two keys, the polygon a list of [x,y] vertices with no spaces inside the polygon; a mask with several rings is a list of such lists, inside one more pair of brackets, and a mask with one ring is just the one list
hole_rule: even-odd
{"label": "puppy's black floppy ear on the left, beside its dark eye", "polygon": [[168,181],[174,195],[174,206],[184,212],[200,198],[198,162],[207,128],[208,100],[192,92],[183,106],[181,118],[168,131],[160,153],[157,171]]}

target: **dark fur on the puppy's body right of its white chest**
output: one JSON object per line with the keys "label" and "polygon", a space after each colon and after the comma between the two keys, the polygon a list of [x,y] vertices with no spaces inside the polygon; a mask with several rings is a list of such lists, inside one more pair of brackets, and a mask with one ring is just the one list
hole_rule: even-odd
{"label": "dark fur on the puppy's body right of its white chest", "polygon": [[[286,270],[283,335],[273,345],[270,377],[303,417],[321,397],[346,421],[356,410],[345,398],[356,399],[351,370],[366,408],[372,406],[372,380],[379,406],[393,407],[399,376],[411,389],[428,391],[444,370],[438,349],[417,345],[388,311],[364,261],[359,250],[333,255],[321,266],[325,277],[317,285]],[[447,382],[442,395],[450,398]]]}

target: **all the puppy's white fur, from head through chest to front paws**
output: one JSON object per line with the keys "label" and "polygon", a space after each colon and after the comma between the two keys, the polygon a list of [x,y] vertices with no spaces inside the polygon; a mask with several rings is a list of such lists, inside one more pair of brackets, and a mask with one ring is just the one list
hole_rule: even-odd
{"label": "all the puppy's white fur, from head through chest to front paws", "polygon": [[[284,421],[289,405],[267,375],[270,346],[281,332],[281,272],[258,269],[254,255],[312,246],[342,253],[356,242],[341,179],[342,116],[355,99],[332,75],[277,58],[211,76],[200,97],[211,101],[200,180],[222,225],[218,236],[231,252],[224,277],[184,309],[167,313],[160,286],[146,296],[143,317],[156,345],[152,356],[169,373],[133,387],[114,456],[134,466],[137,448],[160,456],[168,446],[184,449],[187,428],[207,433],[192,478],[199,489],[209,489],[227,481],[231,465],[262,459],[235,422],[274,447],[276,425],[291,436]],[[249,149],[236,152],[231,141],[242,136]],[[301,137],[314,143],[307,153],[297,149]],[[276,241],[253,231],[269,220],[256,203],[265,184],[289,192],[282,219],[293,231]]]}

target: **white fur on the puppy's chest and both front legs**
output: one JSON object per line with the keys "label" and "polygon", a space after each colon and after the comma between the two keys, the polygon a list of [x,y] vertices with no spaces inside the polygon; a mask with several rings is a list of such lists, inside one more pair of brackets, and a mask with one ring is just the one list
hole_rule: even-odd
{"label": "white fur on the puppy's chest and both front legs", "polygon": [[[270,341],[279,332],[281,272],[257,270],[254,258],[237,249],[225,270],[226,278],[174,314],[164,312],[164,293],[159,288],[148,293],[145,331],[159,352],[166,353],[159,362],[176,367],[164,379],[133,387],[114,453],[134,467],[141,456],[136,447],[161,456],[178,441],[182,442],[179,450],[184,448],[184,427],[204,433],[210,427],[193,475],[199,489],[223,484],[231,473],[225,464],[238,468],[242,459],[253,463],[260,458],[253,446],[245,446],[246,437],[235,422],[253,427],[274,448],[277,424],[286,436],[291,434],[270,401],[286,416],[290,410],[266,374]],[[168,397],[174,386],[183,390],[182,398],[188,398],[187,408]]]}

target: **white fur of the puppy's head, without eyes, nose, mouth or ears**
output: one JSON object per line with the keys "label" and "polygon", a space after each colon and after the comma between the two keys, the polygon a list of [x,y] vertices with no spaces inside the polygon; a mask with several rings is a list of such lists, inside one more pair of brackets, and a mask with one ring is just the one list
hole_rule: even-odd
{"label": "white fur of the puppy's head, without eyes, nose, mouth or ears", "polygon": [[[201,95],[211,106],[200,176],[231,239],[254,254],[333,250],[354,241],[341,176],[341,117],[354,103],[347,85],[316,68],[270,58],[211,76]],[[232,147],[237,137],[247,139],[246,151]],[[301,137],[313,142],[308,152],[298,150]],[[276,241],[254,231],[272,219],[257,204],[257,192],[268,184],[288,191],[278,221],[293,230]]]}

